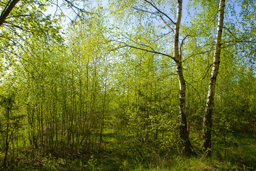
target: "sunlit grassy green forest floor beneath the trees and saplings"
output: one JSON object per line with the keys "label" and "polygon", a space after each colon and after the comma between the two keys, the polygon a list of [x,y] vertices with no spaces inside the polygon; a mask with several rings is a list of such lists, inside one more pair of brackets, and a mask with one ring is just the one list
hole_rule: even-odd
{"label": "sunlit grassy green forest floor beneath the trees and saplings", "polygon": [[253,132],[231,133],[225,143],[215,143],[210,158],[203,154],[186,158],[177,153],[153,152],[142,160],[138,152],[122,146],[114,133],[105,132],[103,138],[101,149],[94,152],[66,154],[65,157],[38,155],[33,160],[23,157],[18,163],[0,170],[256,170],[256,135]]}

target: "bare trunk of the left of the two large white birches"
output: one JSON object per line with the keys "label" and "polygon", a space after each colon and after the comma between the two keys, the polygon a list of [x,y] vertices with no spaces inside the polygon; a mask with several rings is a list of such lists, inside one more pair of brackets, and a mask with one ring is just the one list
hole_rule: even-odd
{"label": "bare trunk of the left of the two large white birches", "polygon": [[192,145],[189,141],[189,134],[187,132],[187,119],[185,112],[185,102],[186,102],[186,83],[182,72],[182,62],[181,55],[179,55],[179,25],[181,24],[181,10],[182,10],[182,0],[178,1],[177,8],[177,21],[174,28],[174,59],[176,63],[176,72],[179,79],[179,135],[181,136],[181,141],[183,145],[183,152],[187,156],[193,154]]}

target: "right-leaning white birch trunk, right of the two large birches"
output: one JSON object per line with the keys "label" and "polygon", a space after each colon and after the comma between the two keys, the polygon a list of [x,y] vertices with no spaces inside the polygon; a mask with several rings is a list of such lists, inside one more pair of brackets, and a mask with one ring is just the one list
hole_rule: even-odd
{"label": "right-leaning white birch trunk, right of the two large birches", "polygon": [[213,113],[214,107],[214,93],[215,93],[215,86],[216,80],[219,70],[219,58],[221,54],[221,36],[222,36],[222,27],[223,27],[223,18],[224,18],[224,7],[225,7],[225,0],[221,0],[219,2],[219,17],[218,17],[218,30],[216,36],[216,45],[214,51],[214,60],[213,60],[213,70],[211,71],[211,78],[209,84],[209,91],[207,96],[207,103],[205,108],[205,116],[203,117],[203,147],[205,151],[209,154],[211,148],[211,116]]}

